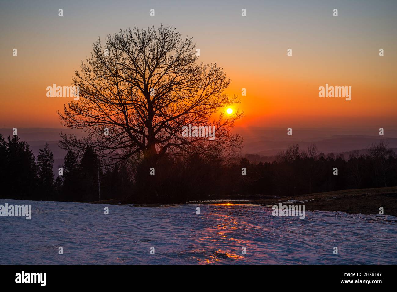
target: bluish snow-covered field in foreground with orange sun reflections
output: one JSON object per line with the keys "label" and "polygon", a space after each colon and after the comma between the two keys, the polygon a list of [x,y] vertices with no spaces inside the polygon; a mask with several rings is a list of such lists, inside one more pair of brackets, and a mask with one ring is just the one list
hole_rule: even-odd
{"label": "bluish snow-covered field in foreground with orange sun reflections", "polygon": [[397,263],[393,216],[318,211],[299,220],[273,217],[272,209],[252,205],[135,207],[0,199],[0,205],[6,202],[32,205],[33,214],[31,220],[0,217],[0,264]]}

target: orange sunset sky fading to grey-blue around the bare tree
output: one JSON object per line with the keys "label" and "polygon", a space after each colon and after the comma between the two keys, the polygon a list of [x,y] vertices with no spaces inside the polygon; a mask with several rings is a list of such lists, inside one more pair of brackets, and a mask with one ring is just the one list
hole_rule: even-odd
{"label": "orange sunset sky fading to grey-blue around the bare tree", "polygon": [[[29,11],[3,7],[0,127],[62,127],[56,111],[71,98],[47,98],[46,87],[70,85],[98,36],[163,23],[194,37],[200,61],[225,69],[232,80],[227,93],[239,95],[245,111],[237,126],[396,128],[397,22],[389,12],[394,4],[378,8],[362,2],[355,9],[341,3],[333,17],[331,6],[316,2],[262,7],[254,1],[241,17],[237,2],[220,6],[222,13],[216,6],[193,11],[193,4],[178,2],[171,9],[172,4],[153,3],[156,17],[149,17],[143,4],[131,15],[104,6],[110,4],[80,11],[64,4],[64,17],[58,17],[55,4]],[[378,55],[379,48],[385,56]],[[318,87],[326,83],[352,86],[352,100],[318,97]]]}

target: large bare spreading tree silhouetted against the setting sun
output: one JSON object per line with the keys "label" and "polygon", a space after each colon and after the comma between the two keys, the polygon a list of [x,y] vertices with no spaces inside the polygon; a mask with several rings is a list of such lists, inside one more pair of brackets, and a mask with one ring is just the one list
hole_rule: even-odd
{"label": "large bare spreading tree silhouetted against the setting sun", "polygon": [[[102,158],[143,156],[156,162],[166,154],[222,153],[241,146],[230,129],[243,113],[225,113],[240,102],[224,93],[230,79],[216,63],[197,58],[193,39],[168,26],[120,30],[108,35],[104,46],[98,40],[91,58],[75,71],[80,99],[58,111],[63,125],[87,136],[61,133],[61,147],[81,153],[89,146]],[[183,136],[189,124],[215,126],[215,139]]]}

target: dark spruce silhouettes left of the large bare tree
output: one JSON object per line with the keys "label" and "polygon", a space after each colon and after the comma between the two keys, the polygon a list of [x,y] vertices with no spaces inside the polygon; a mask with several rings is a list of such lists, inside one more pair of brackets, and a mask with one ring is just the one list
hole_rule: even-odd
{"label": "dark spruce silhouettes left of the large bare tree", "polygon": [[81,159],[69,151],[62,175],[56,179],[53,165],[54,156],[47,143],[36,159],[29,145],[19,141],[18,136],[6,141],[0,134],[2,198],[93,202],[130,194],[132,183],[127,170],[115,165],[104,171],[91,149],[86,149]]}

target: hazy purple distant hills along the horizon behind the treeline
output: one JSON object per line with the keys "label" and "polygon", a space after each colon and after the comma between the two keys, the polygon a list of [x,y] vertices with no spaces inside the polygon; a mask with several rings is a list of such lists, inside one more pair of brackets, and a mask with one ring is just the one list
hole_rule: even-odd
{"label": "hazy purple distant hills along the horizon behind the treeline", "polygon": [[[387,136],[376,136],[376,129],[293,129],[293,135],[287,136],[287,129],[266,127],[235,127],[233,133],[238,133],[244,138],[243,154],[258,154],[259,156],[275,156],[281,150],[285,150],[291,144],[299,144],[306,149],[311,143],[315,143],[319,152],[328,154],[344,154],[346,156],[353,150],[365,150],[370,144],[387,139],[389,147],[397,148],[397,130],[385,129]],[[18,136],[21,141],[27,142],[35,156],[39,149],[47,142],[54,153],[54,167],[62,165],[66,151],[59,148],[58,140],[60,132],[84,136],[85,133],[78,129],[56,128],[18,128]],[[2,128],[0,133],[7,138],[12,135],[12,129]]]}

